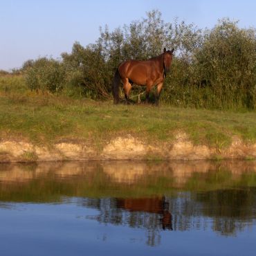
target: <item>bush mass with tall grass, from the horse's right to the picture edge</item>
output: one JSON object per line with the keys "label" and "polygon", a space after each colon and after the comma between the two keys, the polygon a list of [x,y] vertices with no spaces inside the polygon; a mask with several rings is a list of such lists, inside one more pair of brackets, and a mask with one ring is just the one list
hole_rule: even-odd
{"label": "bush mass with tall grass, from the horse's right to the picture edge", "polygon": [[176,58],[165,83],[165,100],[183,107],[256,107],[256,33],[237,22],[206,30],[190,59]]}

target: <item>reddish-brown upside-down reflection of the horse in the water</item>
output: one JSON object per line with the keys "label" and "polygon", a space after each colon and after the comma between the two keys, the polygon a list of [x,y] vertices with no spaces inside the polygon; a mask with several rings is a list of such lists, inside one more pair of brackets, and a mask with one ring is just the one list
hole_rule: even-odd
{"label": "reddish-brown upside-down reflection of the horse in the water", "polygon": [[172,230],[172,214],[169,212],[169,203],[165,196],[153,198],[117,199],[117,208],[130,212],[149,212],[161,215],[163,230]]}

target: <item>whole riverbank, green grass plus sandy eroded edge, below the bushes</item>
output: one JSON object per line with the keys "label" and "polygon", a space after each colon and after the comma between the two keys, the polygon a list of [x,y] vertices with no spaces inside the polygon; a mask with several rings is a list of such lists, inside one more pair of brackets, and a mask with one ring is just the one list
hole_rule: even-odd
{"label": "whole riverbank, green grass plus sandy eroded edge, below the bushes", "polygon": [[0,80],[0,162],[256,158],[256,112],[113,105]]}

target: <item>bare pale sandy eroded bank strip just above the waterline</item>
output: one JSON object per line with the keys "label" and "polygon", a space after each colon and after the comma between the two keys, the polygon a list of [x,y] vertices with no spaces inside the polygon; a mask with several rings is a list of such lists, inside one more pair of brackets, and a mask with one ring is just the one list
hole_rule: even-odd
{"label": "bare pale sandy eroded bank strip just above the waterline", "polygon": [[233,138],[223,149],[194,145],[185,134],[177,134],[172,143],[152,145],[133,136],[116,137],[102,147],[86,143],[65,142],[48,146],[24,140],[2,140],[0,163],[104,160],[222,160],[256,159],[256,143],[246,144]]}

